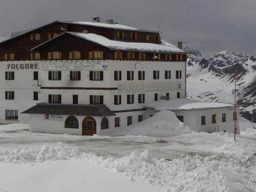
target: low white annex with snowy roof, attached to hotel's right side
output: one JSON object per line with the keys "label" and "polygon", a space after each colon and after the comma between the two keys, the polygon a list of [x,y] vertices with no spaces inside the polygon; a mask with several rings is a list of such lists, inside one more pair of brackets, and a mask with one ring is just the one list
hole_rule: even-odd
{"label": "low white annex with snowy roof, attached to hotel's right side", "polygon": [[[145,108],[147,116],[152,116],[159,111],[173,111],[177,118],[193,131],[234,132],[234,105],[231,104],[179,98],[155,101],[146,105]],[[239,111],[239,106],[236,107],[236,111]],[[237,134],[240,134],[239,113],[236,119]]]}

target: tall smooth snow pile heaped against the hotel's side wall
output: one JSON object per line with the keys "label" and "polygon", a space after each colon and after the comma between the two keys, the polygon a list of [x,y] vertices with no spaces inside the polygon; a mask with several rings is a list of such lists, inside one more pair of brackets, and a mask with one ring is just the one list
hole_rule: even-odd
{"label": "tall smooth snow pile heaped against the hotel's side wall", "polygon": [[151,136],[172,137],[191,130],[180,122],[172,111],[160,111],[142,122],[124,127],[101,130],[100,135],[107,136]]}

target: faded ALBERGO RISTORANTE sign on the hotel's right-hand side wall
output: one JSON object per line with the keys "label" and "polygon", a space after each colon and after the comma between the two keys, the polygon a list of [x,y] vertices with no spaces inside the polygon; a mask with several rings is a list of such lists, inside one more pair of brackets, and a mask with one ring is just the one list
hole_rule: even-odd
{"label": "faded ALBERGO RISTORANTE sign on the hotel's right-hand side wall", "polygon": [[148,82],[148,83],[120,83],[118,92],[133,91],[160,91],[160,90],[180,90],[181,81],[172,82]]}

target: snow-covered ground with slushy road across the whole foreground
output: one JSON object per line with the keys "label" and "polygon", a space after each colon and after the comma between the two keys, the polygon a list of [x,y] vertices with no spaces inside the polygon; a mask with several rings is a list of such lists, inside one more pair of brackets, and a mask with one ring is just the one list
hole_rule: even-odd
{"label": "snow-covered ground with slushy road across the whole foreground", "polygon": [[247,130],[236,143],[220,132],[89,137],[8,125],[12,132],[0,132],[0,191],[253,192],[256,129],[241,123]]}

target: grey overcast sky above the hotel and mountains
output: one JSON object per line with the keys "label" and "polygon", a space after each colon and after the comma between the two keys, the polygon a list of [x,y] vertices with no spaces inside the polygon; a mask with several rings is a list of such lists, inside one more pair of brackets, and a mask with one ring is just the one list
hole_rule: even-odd
{"label": "grey overcast sky above the hotel and mountains", "polygon": [[256,53],[256,0],[0,0],[0,41],[12,31],[93,15],[163,32],[205,57],[223,50]]}

